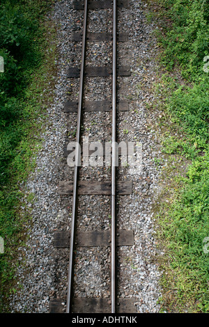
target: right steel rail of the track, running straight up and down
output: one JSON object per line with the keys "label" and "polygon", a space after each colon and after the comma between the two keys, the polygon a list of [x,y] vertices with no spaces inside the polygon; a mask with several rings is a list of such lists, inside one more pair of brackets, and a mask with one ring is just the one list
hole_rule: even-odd
{"label": "right steel rail of the track, running straight up and down", "polygon": [[116,312],[116,47],[117,1],[113,3],[112,160],[111,160],[111,313]]}

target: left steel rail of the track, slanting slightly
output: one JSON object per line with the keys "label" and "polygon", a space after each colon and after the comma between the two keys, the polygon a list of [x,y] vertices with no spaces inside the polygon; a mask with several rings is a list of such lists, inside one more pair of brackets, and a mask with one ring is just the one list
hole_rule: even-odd
{"label": "left steel rail of the track, slanting slightly", "polygon": [[81,121],[82,121],[82,99],[84,92],[84,64],[85,64],[85,49],[86,49],[86,24],[87,24],[87,9],[88,0],[84,0],[84,25],[83,25],[83,38],[82,38],[82,63],[80,70],[79,79],[79,102],[77,111],[77,135],[76,142],[77,146],[75,148],[75,170],[74,170],[74,183],[73,183],[73,195],[72,195],[72,221],[70,230],[70,257],[68,265],[68,293],[67,293],[67,303],[66,303],[66,313],[70,313],[71,301],[72,301],[72,281],[73,281],[73,252],[75,243],[75,227],[77,220],[77,181],[78,181],[78,170],[79,170],[79,143],[81,139]]}

